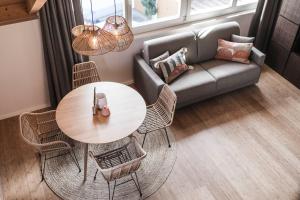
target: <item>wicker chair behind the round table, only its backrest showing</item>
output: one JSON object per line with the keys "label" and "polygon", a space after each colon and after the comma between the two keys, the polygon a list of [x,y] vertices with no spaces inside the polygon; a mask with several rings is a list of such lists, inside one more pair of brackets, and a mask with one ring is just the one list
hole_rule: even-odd
{"label": "wicker chair behind the round table, only its backrest showing", "polygon": [[73,89],[76,89],[88,83],[94,83],[99,81],[101,81],[101,79],[98,74],[95,62],[83,62],[73,66]]}

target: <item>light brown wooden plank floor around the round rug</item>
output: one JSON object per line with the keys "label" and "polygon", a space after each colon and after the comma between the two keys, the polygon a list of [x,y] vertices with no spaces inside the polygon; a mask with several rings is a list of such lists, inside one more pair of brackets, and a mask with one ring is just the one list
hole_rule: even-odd
{"label": "light brown wooden plank floor around the round rug", "polygon": [[[150,200],[299,200],[300,91],[269,68],[257,86],[176,112],[173,172]],[[17,118],[0,122],[0,199],[58,199]]]}

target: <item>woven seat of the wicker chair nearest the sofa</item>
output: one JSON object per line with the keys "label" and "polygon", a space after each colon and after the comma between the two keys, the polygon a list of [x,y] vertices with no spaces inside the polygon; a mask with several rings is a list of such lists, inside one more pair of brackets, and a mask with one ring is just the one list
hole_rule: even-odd
{"label": "woven seat of the wicker chair nearest the sofa", "polygon": [[165,128],[167,123],[159,115],[154,107],[147,108],[146,118],[143,124],[138,128],[138,132],[141,134],[146,134],[152,131],[156,131]]}

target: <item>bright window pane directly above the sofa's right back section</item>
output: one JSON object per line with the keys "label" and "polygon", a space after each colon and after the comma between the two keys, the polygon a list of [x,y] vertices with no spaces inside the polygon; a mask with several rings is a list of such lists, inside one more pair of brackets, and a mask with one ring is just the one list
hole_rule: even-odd
{"label": "bright window pane directly above the sofa's right back section", "polygon": [[229,8],[232,0],[192,0],[191,15]]}

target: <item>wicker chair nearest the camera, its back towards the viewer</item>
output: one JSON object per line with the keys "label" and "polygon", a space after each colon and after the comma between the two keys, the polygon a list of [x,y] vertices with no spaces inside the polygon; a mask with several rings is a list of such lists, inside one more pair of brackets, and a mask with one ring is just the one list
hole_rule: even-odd
{"label": "wicker chair nearest the camera, its back towards the viewer", "polygon": [[[126,145],[118,149],[100,155],[94,155],[91,151],[89,152],[89,154],[98,166],[94,176],[94,180],[96,180],[99,170],[102,173],[104,179],[107,181],[109,199],[114,198],[116,186],[127,183],[129,181],[134,182],[140,193],[140,196],[142,196],[142,191],[136,171],[139,169],[142,160],[146,157],[146,152],[142,149],[134,136],[130,137],[130,141]],[[133,174],[135,175],[135,179]],[[125,176],[131,176],[131,179],[117,184],[117,180]],[[114,186],[111,196],[110,182],[112,181],[114,182]]]}

